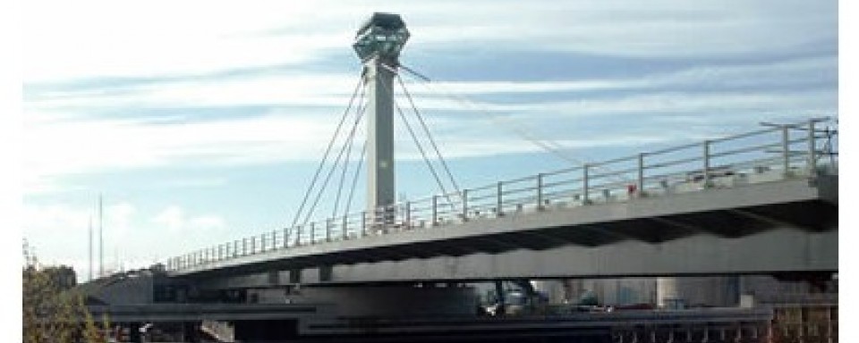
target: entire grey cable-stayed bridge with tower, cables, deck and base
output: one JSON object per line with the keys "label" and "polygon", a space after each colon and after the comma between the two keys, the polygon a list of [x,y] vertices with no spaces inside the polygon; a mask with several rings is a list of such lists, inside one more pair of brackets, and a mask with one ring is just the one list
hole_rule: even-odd
{"label": "entire grey cable-stayed bridge with tower, cables, deck and base", "polygon": [[[650,313],[612,314],[593,325],[583,323],[593,319],[587,315],[484,322],[472,318],[473,289],[457,285],[668,277],[662,286],[670,289],[670,280],[682,276],[838,272],[838,138],[825,118],[767,124],[734,136],[395,202],[393,121],[395,109],[403,113],[395,104],[394,81],[402,85],[398,72],[413,72],[398,61],[408,37],[399,16],[376,13],[354,44],[363,63],[359,87],[369,95],[358,105],[349,133],[353,138],[361,115],[368,113],[365,210],[317,222],[298,223],[297,215],[290,227],[169,258],[145,278],[96,280],[83,286],[99,300],[90,309],[115,315],[132,328],[146,321],[244,321],[235,332],[251,339],[302,334],[342,339],[337,335],[384,331],[343,318],[401,314],[412,317],[387,322],[389,330],[530,328],[569,335],[586,327],[604,337],[634,318],[635,325],[753,322],[757,338],[761,321],[771,318],[767,310],[656,319]],[[351,107],[352,101],[337,132]],[[313,182],[318,176],[319,170]],[[428,286],[442,283],[448,286]],[[254,293],[251,300],[251,290],[272,292]],[[500,303],[503,307],[503,297]],[[451,314],[459,315],[457,323],[421,322],[423,315]]]}

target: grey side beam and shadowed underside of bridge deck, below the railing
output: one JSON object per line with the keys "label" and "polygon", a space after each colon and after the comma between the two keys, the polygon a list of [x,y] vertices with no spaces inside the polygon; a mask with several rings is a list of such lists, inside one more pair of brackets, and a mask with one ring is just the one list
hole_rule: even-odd
{"label": "grey side beam and shadowed underside of bridge deck, below the railing", "polygon": [[799,178],[292,247],[177,272],[302,283],[838,271],[838,180]]}

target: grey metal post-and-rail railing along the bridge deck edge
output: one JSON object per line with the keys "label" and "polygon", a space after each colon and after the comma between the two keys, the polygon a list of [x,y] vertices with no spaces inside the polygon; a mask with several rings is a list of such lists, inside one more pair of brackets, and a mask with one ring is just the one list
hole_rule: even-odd
{"label": "grey metal post-and-rail railing along the bridge deck edge", "polygon": [[[375,212],[350,213],[292,229],[272,230],[207,247],[166,261],[168,271],[206,268],[232,258],[275,250],[361,239],[559,208],[634,201],[707,188],[814,177],[821,169],[819,130],[828,119],[779,125],[727,138],[585,163],[582,166],[504,180],[461,192],[434,195]],[[831,146],[830,149],[834,149]]]}

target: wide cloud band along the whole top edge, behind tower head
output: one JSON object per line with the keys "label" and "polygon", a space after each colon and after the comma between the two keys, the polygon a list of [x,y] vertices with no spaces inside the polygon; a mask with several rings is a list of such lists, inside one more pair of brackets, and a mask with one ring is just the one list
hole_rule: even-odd
{"label": "wide cloud band along the whole top edge, behind tower head", "polygon": [[[830,38],[836,7],[803,1],[476,1],[389,4],[412,49],[565,50],[712,56],[785,51]],[[205,8],[205,10],[203,10]],[[324,8],[325,11],[319,11]],[[82,0],[24,6],[27,81],[197,74],[305,63],[349,49],[378,4]]]}

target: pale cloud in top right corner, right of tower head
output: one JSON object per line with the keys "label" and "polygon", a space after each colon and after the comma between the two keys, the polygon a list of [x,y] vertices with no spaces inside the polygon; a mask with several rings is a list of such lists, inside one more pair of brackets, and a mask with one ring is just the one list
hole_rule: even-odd
{"label": "pale cloud in top right corner, right of tower head", "polygon": [[835,2],[742,0],[486,1],[466,10],[432,5],[426,27],[420,25],[423,17],[415,20],[415,45],[670,58],[794,49],[830,38],[837,7]]}

